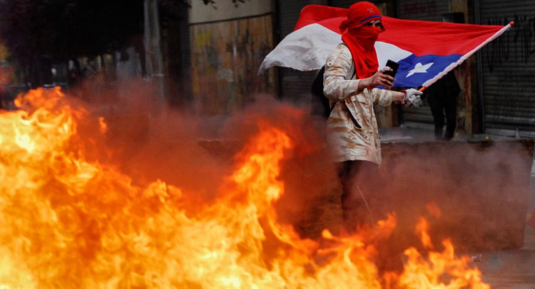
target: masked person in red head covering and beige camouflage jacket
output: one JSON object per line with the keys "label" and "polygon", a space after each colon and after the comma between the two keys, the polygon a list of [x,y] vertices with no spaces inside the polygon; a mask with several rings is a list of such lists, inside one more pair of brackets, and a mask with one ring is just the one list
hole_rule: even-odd
{"label": "masked person in red head covering and beige camouflage jacket", "polygon": [[354,3],[340,25],[343,43],[325,64],[323,92],[332,108],[327,119],[329,147],[338,165],[343,220],[349,233],[386,217],[379,213],[379,204],[386,200],[379,193],[381,147],[373,106],[419,101],[422,94],[415,89],[395,92],[375,88],[391,88],[394,81],[385,74],[391,71],[389,67],[378,71],[374,44],[379,33],[388,28],[382,25],[381,17],[374,4]]}

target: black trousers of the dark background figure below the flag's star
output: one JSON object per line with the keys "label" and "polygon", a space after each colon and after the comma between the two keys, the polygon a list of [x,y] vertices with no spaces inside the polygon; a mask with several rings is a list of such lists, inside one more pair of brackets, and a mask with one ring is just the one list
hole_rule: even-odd
{"label": "black trousers of the dark background figure below the flag's star", "polygon": [[[456,95],[429,94],[427,103],[429,104],[429,108],[431,108],[431,115],[433,115],[436,138],[451,140],[454,136],[456,127]],[[445,132],[444,124],[446,124]]]}

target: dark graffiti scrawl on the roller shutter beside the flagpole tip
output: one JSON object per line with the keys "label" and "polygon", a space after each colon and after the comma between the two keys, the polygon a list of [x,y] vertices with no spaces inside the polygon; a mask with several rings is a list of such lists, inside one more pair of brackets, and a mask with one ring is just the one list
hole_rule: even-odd
{"label": "dark graffiti scrawl on the roller shutter beside the flagpole tip", "polygon": [[[488,21],[488,25],[504,25],[508,19],[496,18]],[[515,24],[510,31],[504,33],[499,38],[488,44],[484,51],[486,62],[492,73],[497,66],[503,63],[516,63],[525,65],[535,54],[535,17],[518,16],[514,17]]]}

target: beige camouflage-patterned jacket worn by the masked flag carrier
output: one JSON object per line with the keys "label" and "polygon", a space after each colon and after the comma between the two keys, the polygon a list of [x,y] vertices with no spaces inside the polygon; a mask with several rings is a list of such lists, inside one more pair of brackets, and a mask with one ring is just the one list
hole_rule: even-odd
{"label": "beige camouflage-patterned jacket worn by the masked flag carrier", "polygon": [[[392,92],[373,88],[358,92],[359,79],[355,79],[351,51],[338,44],[327,58],[323,76],[323,93],[334,108],[327,119],[329,145],[336,161],[369,160],[381,163],[381,145],[377,131],[377,119],[373,106],[389,106]],[[349,110],[361,128],[352,121]]]}

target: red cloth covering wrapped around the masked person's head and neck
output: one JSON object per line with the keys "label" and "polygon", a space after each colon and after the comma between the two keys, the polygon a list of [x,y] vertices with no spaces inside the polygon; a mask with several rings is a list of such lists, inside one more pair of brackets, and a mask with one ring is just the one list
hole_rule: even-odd
{"label": "red cloth covering wrapped around the masked person's head and neck", "polygon": [[340,24],[342,41],[347,44],[353,56],[357,79],[368,78],[379,68],[374,44],[384,28],[363,25],[381,18],[381,11],[377,6],[361,1],[349,7],[347,19]]}

